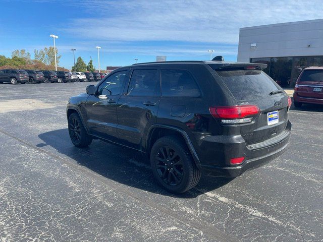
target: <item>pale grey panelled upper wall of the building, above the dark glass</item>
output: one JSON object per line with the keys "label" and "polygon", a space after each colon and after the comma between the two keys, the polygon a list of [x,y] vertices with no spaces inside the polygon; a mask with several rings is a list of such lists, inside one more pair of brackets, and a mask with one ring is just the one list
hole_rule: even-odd
{"label": "pale grey panelled upper wall of the building, above the dark glass", "polygon": [[310,55],[323,55],[323,19],[240,28],[238,62]]}

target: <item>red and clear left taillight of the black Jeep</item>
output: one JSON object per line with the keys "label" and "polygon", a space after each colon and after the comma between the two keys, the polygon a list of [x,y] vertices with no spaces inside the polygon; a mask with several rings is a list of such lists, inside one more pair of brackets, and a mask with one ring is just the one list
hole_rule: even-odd
{"label": "red and clear left taillight of the black Jeep", "polygon": [[260,112],[256,105],[210,107],[209,111],[215,118],[220,118],[223,124],[243,124],[252,121]]}

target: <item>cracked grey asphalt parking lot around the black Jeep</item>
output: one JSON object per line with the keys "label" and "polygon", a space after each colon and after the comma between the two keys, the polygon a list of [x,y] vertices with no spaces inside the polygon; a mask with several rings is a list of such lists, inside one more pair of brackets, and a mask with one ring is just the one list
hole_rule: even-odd
{"label": "cracked grey asphalt parking lot around the black Jeep", "polygon": [[140,153],[72,145],[66,103],[87,85],[0,84],[1,241],[323,241],[323,107],[292,106],[280,158],[175,196]]}

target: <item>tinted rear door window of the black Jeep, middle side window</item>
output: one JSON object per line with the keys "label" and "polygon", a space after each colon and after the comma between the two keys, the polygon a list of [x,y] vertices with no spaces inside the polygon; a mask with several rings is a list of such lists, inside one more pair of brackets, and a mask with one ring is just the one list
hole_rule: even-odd
{"label": "tinted rear door window of the black Jeep, middle side window", "polygon": [[134,70],[131,75],[129,96],[159,96],[159,78],[157,70]]}

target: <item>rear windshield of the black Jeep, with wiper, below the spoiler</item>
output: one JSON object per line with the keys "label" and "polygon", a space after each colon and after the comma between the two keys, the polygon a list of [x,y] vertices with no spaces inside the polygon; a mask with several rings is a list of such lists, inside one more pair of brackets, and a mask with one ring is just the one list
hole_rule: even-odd
{"label": "rear windshield of the black Jeep, with wiper, below the spoiler", "polygon": [[254,70],[216,71],[237,101],[265,98],[281,90],[264,72]]}

